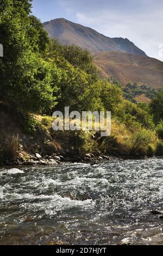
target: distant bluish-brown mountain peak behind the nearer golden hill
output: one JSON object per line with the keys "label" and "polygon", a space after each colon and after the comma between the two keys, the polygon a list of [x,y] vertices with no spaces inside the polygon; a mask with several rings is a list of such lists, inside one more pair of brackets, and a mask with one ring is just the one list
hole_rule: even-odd
{"label": "distant bluish-brown mountain peak behind the nearer golden hill", "polygon": [[109,38],[92,28],[65,20],[55,19],[43,23],[51,38],[58,38],[62,44],[78,45],[92,53],[120,51],[146,56],[146,53],[127,38]]}

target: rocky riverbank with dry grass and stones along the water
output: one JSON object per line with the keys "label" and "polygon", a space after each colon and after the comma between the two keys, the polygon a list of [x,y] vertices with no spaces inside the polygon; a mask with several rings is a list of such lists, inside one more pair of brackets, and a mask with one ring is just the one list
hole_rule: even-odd
{"label": "rocky riverbank with dry grass and stones along the water", "polygon": [[[162,144],[154,131],[129,130],[112,119],[111,135],[101,137],[95,131],[54,131],[49,116],[32,115],[30,125],[1,109],[0,164],[60,164],[90,162],[94,164],[114,157],[126,159],[161,156]],[[28,128],[28,129],[27,129]],[[159,148],[160,147],[160,148]]]}

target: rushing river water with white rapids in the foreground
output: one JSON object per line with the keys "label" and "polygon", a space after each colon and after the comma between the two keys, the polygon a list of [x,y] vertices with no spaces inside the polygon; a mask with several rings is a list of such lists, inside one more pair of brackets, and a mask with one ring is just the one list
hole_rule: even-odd
{"label": "rushing river water with white rapids in the foreground", "polygon": [[1,168],[0,245],[162,245],[163,160]]}

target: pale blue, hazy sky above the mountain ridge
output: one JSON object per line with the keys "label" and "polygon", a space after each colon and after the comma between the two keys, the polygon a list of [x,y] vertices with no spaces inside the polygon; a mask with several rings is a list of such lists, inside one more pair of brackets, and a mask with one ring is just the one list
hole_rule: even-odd
{"label": "pale blue, hazy sky above the mountain ridge", "polygon": [[42,22],[62,17],[109,37],[128,38],[163,61],[162,0],[33,0],[32,10]]}

